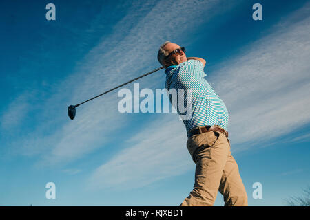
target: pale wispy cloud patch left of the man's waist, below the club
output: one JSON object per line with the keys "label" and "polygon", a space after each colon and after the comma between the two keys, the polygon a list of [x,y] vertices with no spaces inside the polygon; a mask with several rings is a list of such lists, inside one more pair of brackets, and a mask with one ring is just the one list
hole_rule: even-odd
{"label": "pale wispy cloud patch left of the man's waist, below the club", "polygon": [[160,120],[141,126],[125,143],[129,147],[92,173],[89,187],[139,188],[194,168],[183,122],[176,119],[175,114],[161,115]]}

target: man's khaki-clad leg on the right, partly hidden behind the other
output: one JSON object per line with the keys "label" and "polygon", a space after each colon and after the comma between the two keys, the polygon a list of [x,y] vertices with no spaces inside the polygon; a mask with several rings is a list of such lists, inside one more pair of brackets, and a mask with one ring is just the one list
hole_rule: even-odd
{"label": "man's khaki-clad leg on the right, partly hidden behind the other", "polygon": [[224,196],[225,206],[247,206],[247,192],[245,192],[236,160],[231,155],[230,147],[219,191]]}

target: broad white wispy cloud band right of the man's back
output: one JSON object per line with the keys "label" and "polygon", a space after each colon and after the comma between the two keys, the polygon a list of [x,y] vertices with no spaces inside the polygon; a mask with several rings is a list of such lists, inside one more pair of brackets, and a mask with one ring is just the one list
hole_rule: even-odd
{"label": "broad white wispy cloud band right of the man's back", "polygon": [[[309,12],[309,4],[294,13]],[[290,20],[291,17],[287,17]],[[278,24],[273,32],[220,63],[208,79],[230,115],[235,149],[265,142],[310,122],[310,17]]]}

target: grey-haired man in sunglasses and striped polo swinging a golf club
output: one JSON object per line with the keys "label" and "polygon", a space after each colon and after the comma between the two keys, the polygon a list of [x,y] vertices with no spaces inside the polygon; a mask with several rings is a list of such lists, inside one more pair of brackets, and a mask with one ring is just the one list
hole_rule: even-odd
{"label": "grey-haired man in sunglasses and striped polo swinging a golf club", "polygon": [[187,58],[184,47],[169,41],[161,45],[157,57],[166,68],[166,89],[192,89],[192,117],[183,123],[187,149],[196,164],[195,184],[180,206],[212,206],[218,191],[225,206],[247,206],[245,186],[230,151],[228,112],[204,78],[206,61]]}

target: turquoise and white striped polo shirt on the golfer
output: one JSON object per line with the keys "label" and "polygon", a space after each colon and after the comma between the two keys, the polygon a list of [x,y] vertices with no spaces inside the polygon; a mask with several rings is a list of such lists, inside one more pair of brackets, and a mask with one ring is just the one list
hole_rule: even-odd
{"label": "turquoise and white striped polo shirt on the golfer", "polygon": [[[187,135],[190,129],[203,125],[219,125],[227,131],[229,120],[227,108],[223,100],[205,80],[204,77],[207,74],[203,71],[203,63],[191,59],[179,65],[167,67],[165,74],[165,88],[167,90],[172,88],[176,91],[178,89],[192,89],[192,117],[189,120],[183,120]],[[186,94],[184,99],[186,106]],[[169,100],[171,102],[170,96]],[[174,109],[181,114],[178,110],[178,104],[174,106]]]}

